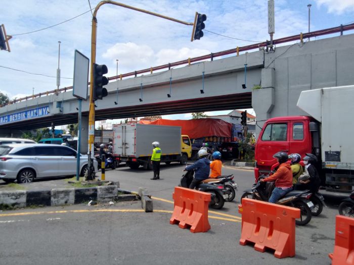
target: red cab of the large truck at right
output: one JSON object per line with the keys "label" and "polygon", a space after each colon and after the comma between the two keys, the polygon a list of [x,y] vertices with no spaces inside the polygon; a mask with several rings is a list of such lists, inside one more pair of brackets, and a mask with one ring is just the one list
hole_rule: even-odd
{"label": "red cab of the large truck at right", "polygon": [[312,152],[316,154],[318,152],[319,155],[319,148],[314,149],[312,134],[312,131],[318,132],[317,126],[318,124],[308,116],[277,117],[267,120],[255,146],[255,179],[271,171],[272,166],[277,163],[273,157],[276,152],[298,153],[301,157]]}

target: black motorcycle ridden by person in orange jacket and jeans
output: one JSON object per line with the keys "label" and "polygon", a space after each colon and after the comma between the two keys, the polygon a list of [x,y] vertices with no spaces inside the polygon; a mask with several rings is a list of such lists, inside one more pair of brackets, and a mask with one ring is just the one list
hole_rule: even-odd
{"label": "black motorcycle ridden by person in orange jacket and jeans", "polygon": [[[254,183],[251,189],[244,190],[244,193],[241,196],[241,202],[243,198],[268,201],[273,189],[275,188],[275,183],[261,182],[260,180],[265,177],[266,176],[264,175],[260,176],[257,183]],[[312,218],[311,209],[314,207],[314,204],[309,200],[311,196],[312,193],[309,192],[309,190],[293,190],[281,197],[276,203],[299,208],[301,212],[300,219],[296,219],[295,223],[296,225],[304,226],[308,224]]]}

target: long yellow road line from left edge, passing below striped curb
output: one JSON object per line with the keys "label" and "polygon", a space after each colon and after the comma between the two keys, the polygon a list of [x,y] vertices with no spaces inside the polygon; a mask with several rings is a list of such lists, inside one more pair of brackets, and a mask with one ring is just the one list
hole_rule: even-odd
{"label": "long yellow road line from left edge, passing below striped curb", "polygon": [[[29,215],[42,215],[42,214],[67,214],[67,213],[104,213],[104,212],[115,212],[115,213],[144,213],[143,209],[94,209],[94,210],[55,210],[55,211],[28,211],[26,213],[13,213],[13,214],[1,214],[0,217],[7,217],[7,216],[29,216]],[[166,213],[172,214],[173,211],[171,210],[154,210],[155,213]],[[216,216],[209,216],[212,219],[218,220],[225,220],[230,222],[240,223],[241,221],[216,217]]]}

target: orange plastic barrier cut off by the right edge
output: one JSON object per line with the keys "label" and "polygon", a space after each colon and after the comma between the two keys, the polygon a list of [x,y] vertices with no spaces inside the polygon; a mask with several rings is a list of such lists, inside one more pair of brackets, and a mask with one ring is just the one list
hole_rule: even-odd
{"label": "orange plastic barrier cut off by the right edge", "polygon": [[328,256],[332,265],[354,265],[354,218],[336,216],[334,251]]}

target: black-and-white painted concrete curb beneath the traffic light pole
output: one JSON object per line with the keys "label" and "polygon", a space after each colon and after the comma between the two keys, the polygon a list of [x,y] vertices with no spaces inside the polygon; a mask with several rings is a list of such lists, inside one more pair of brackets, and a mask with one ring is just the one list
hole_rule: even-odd
{"label": "black-and-white painted concrete curb beneath the traffic light pole", "polygon": [[[23,208],[28,206],[60,206],[86,203],[134,200],[137,195],[118,195],[118,185],[87,188],[61,188],[50,190],[0,191],[0,208]],[[152,202],[151,202],[152,204]]]}

